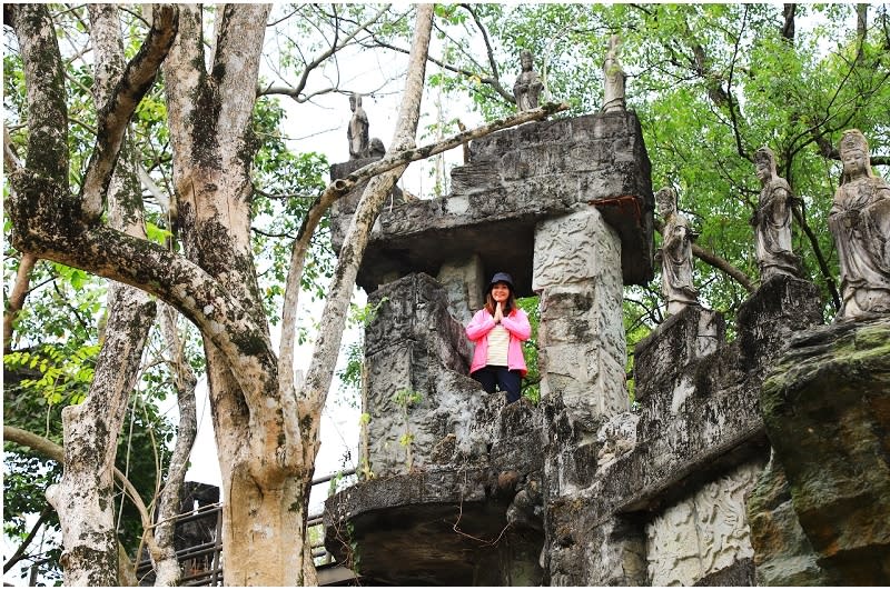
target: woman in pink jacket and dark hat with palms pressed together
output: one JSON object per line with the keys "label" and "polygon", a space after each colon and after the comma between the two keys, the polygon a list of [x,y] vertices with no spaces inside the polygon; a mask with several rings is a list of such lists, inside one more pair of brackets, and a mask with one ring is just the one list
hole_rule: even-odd
{"label": "woman in pink jacket and dark hat with palms pressed together", "polygon": [[513,277],[497,272],[488,283],[485,307],[473,316],[466,336],[476,344],[469,377],[488,393],[505,391],[507,403],[520,399],[522,378],[528,370],[522,343],[532,334],[528,316],[516,306]]}

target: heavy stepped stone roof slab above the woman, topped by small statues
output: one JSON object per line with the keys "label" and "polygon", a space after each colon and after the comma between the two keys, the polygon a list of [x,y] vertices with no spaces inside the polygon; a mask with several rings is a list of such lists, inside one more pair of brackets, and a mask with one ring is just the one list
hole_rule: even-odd
{"label": "heavy stepped stone roof slab above the woman, topped by small statues", "polygon": [[[473,141],[469,151],[471,162],[452,171],[451,194],[386,203],[358,271],[365,291],[412,272],[437,277],[445,266],[481,264],[483,277],[510,269],[517,297],[528,297],[537,223],[591,207],[621,239],[624,283],[652,277],[650,162],[634,113],[527,123]],[[332,177],[360,162],[335,164]],[[332,218],[337,251],[360,190],[340,199]]]}

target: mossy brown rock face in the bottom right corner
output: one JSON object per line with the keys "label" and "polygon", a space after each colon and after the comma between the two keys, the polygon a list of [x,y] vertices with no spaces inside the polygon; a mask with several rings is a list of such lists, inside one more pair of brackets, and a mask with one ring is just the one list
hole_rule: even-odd
{"label": "mossy brown rock face in the bottom right corner", "polygon": [[759,581],[887,584],[890,318],[794,337],[761,406],[774,456],[751,503]]}

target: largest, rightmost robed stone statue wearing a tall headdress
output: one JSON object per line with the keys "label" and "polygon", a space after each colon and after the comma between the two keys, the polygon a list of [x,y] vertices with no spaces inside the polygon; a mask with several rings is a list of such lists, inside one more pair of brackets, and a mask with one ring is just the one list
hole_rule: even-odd
{"label": "largest, rightmost robed stone statue wearing a tall headdress", "polygon": [[844,131],[840,142],[843,176],[828,226],[841,267],[837,319],[890,312],[890,186],[871,170],[861,131]]}

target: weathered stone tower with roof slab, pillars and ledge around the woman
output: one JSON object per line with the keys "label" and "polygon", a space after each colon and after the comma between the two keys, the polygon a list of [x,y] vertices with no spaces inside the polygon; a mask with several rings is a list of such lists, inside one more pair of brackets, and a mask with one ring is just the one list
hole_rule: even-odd
{"label": "weathered stone tower with roof slab, pillars and ledge around the woman", "polygon": [[[366,332],[366,461],[376,478],[330,500],[328,547],[348,561],[348,522],[362,539],[363,576],[388,583],[545,578],[541,448],[555,422],[526,402],[503,409],[501,396],[486,397],[466,377],[462,323],[482,306],[494,270],[512,271],[520,297],[541,294],[542,391],[568,408],[554,420],[595,459],[590,441],[627,411],[622,287],[652,276],[650,164],[635,116],[528,123],[474,141],[469,152],[452,194],[384,209],[358,274],[369,300],[383,302]],[[350,199],[333,220],[335,248]],[[404,390],[419,402],[398,404],[394,393]],[[547,469],[584,483],[571,464]],[[429,536],[433,512],[442,534]],[[413,556],[411,566],[396,549]]]}

